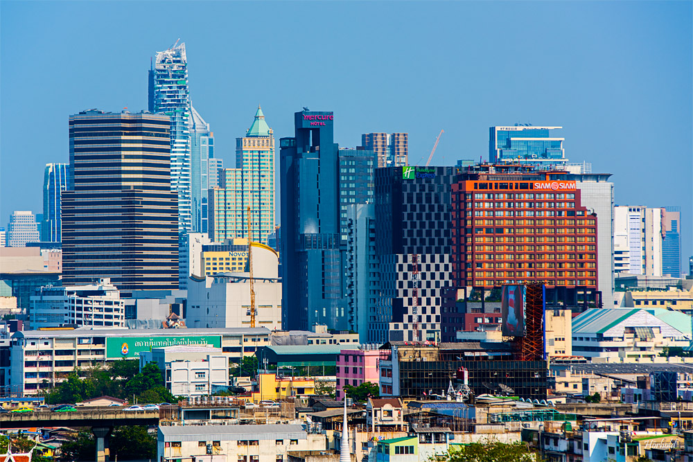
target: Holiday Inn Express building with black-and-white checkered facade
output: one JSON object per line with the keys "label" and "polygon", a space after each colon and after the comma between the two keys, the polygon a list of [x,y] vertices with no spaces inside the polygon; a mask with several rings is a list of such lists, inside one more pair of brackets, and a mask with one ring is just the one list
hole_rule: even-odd
{"label": "Holiday Inn Express building with black-and-white checkered facade", "polygon": [[[376,170],[376,254],[390,341],[438,340],[442,291],[453,285],[453,167]],[[414,297],[415,283],[418,296]],[[383,332],[383,321],[369,329]],[[416,337],[418,327],[419,338]],[[382,334],[378,334],[382,335]]]}

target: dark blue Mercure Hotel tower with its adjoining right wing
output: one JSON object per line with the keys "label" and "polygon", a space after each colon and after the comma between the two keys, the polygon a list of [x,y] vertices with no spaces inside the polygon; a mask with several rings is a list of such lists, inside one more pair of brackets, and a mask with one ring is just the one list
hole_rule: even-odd
{"label": "dark blue Mercure Hotel tower with its adjoining right wing", "polygon": [[283,328],[344,330],[347,206],[372,197],[375,154],[340,150],[332,112],[294,117],[295,136],[279,151]]}

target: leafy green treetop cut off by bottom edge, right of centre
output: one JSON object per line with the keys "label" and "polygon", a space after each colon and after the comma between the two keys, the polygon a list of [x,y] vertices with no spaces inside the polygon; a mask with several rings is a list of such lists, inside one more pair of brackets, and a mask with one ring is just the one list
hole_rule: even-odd
{"label": "leafy green treetop cut off by bottom edge, right of centre", "polygon": [[441,458],[445,462],[540,462],[536,451],[525,443],[470,443],[452,448]]}

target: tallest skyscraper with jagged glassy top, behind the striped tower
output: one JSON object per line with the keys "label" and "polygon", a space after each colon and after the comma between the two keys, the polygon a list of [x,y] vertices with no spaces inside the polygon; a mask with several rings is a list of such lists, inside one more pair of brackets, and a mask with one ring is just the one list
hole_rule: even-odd
{"label": "tallest skyscraper with jagged glassy top, behind the striped tower", "polygon": [[[149,111],[170,118],[170,184],[178,196],[178,228],[193,229],[191,117],[185,44],[159,51],[149,71]],[[204,122],[204,121],[203,121]]]}

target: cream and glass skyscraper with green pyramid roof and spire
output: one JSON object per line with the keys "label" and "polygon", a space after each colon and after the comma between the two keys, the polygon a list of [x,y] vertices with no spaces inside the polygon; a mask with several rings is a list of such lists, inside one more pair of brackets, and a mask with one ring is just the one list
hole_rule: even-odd
{"label": "cream and glass skyscraper with green pyramid roof and spire", "polygon": [[223,170],[222,186],[209,191],[209,238],[216,242],[248,237],[247,207],[253,240],[267,243],[274,232],[274,134],[262,109],[243,138],[236,138],[236,168]]}

